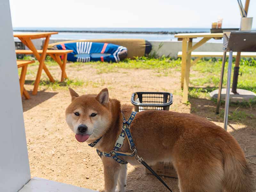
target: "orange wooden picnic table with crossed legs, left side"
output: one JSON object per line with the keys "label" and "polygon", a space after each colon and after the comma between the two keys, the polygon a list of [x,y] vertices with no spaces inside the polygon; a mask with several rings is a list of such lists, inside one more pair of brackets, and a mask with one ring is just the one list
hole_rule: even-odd
{"label": "orange wooden picnic table with crossed legs, left side", "polygon": [[[25,44],[35,55],[36,59],[39,61],[39,67],[36,75],[36,80],[34,84],[34,90],[32,92],[33,95],[37,94],[38,86],[40,83],[40,77],[42,74],[42,70],[44,69],[46,75],[49,77],[51,82],[54,82],[52,75],[50,74],[49,70],[47,69],[46,65],[44,64],[44,60],[46,57],[46,50],[49,44],[50,36],[53,34],[58,34],[58,32],[42,32],[42,33],[21,33],[21,34],[14,34],[14,37],[18,37],[20,41]],[[45,38],[43,51],[41,55],[37,52],[36,47],[32,43],[32,39],[38,38]]]}

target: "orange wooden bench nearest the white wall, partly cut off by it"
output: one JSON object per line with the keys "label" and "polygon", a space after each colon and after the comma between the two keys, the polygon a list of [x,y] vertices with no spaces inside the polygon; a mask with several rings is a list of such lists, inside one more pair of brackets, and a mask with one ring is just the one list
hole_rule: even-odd
{"label": "orange wooden bench nearest the white wall, partly cut off by it", "polygon": [[25,61],[25,60],[17,60],[17,67],[22,68],[20,74],[20,95],[24,95],[26,99],[30,99],[30,96],[26,89],[24,88],[25,76],[27,73],[28,64],[35,63],[35,61]]}

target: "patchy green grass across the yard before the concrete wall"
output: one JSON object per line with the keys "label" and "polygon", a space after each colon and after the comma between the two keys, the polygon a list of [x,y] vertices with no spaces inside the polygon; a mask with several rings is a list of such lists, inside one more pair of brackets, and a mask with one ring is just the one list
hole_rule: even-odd
{"label": "patchy green grass across the yard before the concrete wall", "polygon": [[[33,60],[31,56],[25,56],[23,59]],[[47,66],[56,66],[58,65],[53,61],[49,56],[46,57],[45,63]],[[193,74],[190,76],[190,88],[189,88],[189,97],[190,98],[199,98],[199,97],[208,97],[208,92],[216,89],[219,86],[220,82],[220,71],[221,71],[221,59],[201,59],[195,65],[191,67]],[[32,65],[38,65],[38,61]],[[102,73],[112,73],[118,72],[119,69],[153,69],[155,76],[170,76],[173,69],[175,71],[180,71],[181,60],[173,59],[170,57],[140,57],[135,59],[125,59],[119,63],[108,63],[108,62],[74,62],[69,65],[75,70],[83,70],[85,65],[90,65],[93,68],[96,68],[98,74]],[[223,87],[227,83],[227,65],[225,65],[225,75],[223,79]],[[234,67],[234,65],[233,65]],[[29,72],[29,70],[28,70]],[[196,74],[195,74],[196,72]],[[32,73],[32,72],[29,72]],[[123,71],[122,73],[127,73]],[[256,60],[253,58],[242,58],[240,62],[239,73],[242,73],[242,76],[238,77],[237,88],[250,90],[256,93]],[[34,73],[33,73],[34,74]],[[146,74],[145,74],[146,75]],[[232,71],[233,75],[233,71]],[[231,77],[233,78],[233,76]],[[104,82],[103,82],[104,83]],[[102,82],[87,82],[87,84],[92,84],[93,87],[99,87],[103,84]],[[58,88],[59,86],[64,86],[63,84],[57,83],[41,83],[44,86],[49,86],[52,88]],[[84,82],[80,80],[66,80],[65,86],[82,86]],[[139,86],[139,85],[136,85]],[[191,88],[192,87],[192,88]],[[199,87],[199,88],[198,88]],[[201,87],[201,88],[200,88]],[[204,88],[202,88],[204,87]]]}

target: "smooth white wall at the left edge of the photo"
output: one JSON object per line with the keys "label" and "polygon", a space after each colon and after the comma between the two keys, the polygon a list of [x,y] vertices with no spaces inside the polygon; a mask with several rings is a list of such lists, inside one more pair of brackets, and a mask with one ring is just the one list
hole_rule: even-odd
{"label": "smooth white wall at the left edge of the photo", "polygon": [[9,0],[0,0],[0,191],[30,179]]}

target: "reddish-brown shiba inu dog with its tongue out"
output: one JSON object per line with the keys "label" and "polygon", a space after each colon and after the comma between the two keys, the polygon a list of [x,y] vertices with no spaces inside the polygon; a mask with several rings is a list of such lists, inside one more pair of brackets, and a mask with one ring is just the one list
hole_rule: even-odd
{"label": "reddish-brown shiba inu dog with its tongue out", "polygon": [[[133,107],[109,99],[108,89],[79,96],[69,88],[71,104],[66,121],[76,140],[92,143],[100,151],[113,150],[122,132],[123,115]],[[148,164],[172,162],[181,192],[255,192],[253,174],[237,141],[221,127],[204,118],[171,111],[139,112],[130,127],[138,155]],[[131,152],[127,139],[120,149]],[[120,157],[140,164],[134,157]],[[101,157],[105,192],[124,192],[126,168],[111,157]],[[116,188],[117,185],[117,188]]]}

